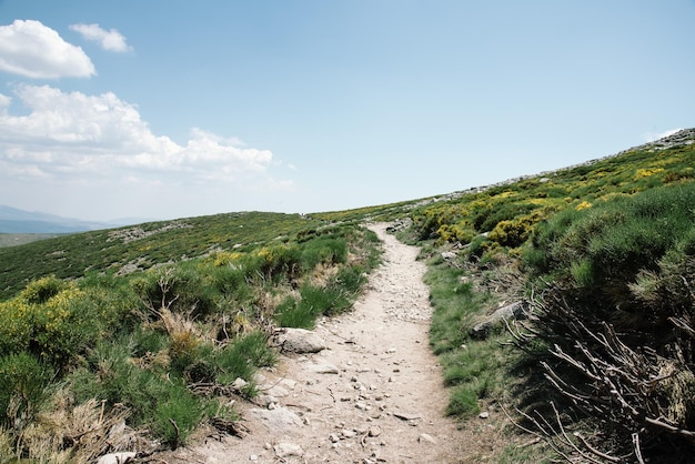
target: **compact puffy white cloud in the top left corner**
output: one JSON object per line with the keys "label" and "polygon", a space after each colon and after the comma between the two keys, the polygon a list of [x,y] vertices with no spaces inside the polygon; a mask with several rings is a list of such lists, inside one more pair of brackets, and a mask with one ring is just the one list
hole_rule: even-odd
{"label": "compact puffy white cloud in the top left corner", "polygon": [[0,26],[0,71],[34,79],[88,78],[94,65],[80,47],[34,20]]}

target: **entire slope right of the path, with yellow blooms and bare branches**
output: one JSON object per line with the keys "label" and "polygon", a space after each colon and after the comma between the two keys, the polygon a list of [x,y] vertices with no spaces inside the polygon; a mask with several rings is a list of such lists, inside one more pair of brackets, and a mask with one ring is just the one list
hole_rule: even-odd
{"label": "entire slope right of the path, with yellow blooms and bare branches", "polygon": [[[496,411],[502,425],[505,411],[546,444],[541,455],[512,444],[500,462],[693,452],[694,141],[688,131],[410,213],[402,236],[429,263],[450,413]],[[472,331],[522,300],[530,320]]]}

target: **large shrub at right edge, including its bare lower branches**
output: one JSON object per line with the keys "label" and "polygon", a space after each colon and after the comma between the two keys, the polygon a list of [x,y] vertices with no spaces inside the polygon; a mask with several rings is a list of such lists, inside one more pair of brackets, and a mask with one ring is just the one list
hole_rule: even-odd
{"label": "large shrub at right edge, including its bare lower branches", "polygon": [[629,460],[692,453],[693,204],[695,183],[561,213],[526,251],[526,265],[551,282],[535,302],[555,360],[545,371]]}

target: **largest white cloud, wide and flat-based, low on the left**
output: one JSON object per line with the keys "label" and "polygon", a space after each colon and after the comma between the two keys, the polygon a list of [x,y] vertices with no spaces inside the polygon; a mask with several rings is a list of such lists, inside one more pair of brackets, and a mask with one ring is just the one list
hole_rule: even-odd
{"label": "largest white cloud, wide and flat-based, low on the left", "polygon": [[[273,154],[269,150],[243,148],[239,139],[201,129],[193,129],[188,143],[179,145],[152,133],[138,108],[111,92],[87,95],[23,84],[14,88],[14,94],[30,112],[21,117],[0,112],[0,173],[4,175],[288,188],[270,178]],[[8,100],[0,99],[0,107]]]}

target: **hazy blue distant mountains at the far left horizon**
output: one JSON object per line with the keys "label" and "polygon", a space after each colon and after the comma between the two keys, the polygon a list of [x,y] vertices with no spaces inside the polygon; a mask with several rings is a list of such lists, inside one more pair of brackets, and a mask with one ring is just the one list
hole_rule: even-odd
{"label": "hazy blue distant mountains at the far left horizon", "polygon": [[0,233],[72,233],[145,222],[122,219],[109,222],[82,221],[39,211],[24,211],[0,204]]}

